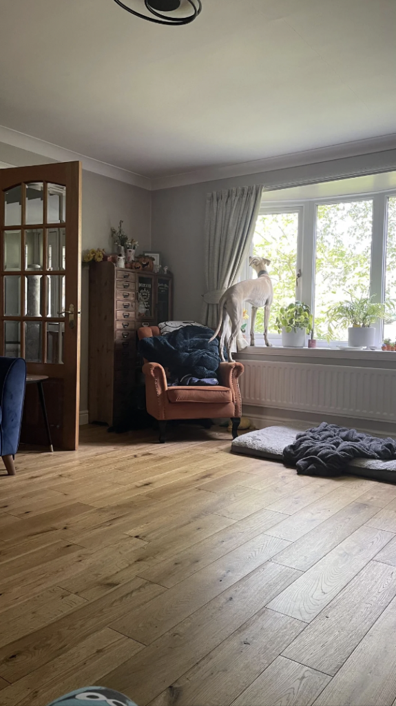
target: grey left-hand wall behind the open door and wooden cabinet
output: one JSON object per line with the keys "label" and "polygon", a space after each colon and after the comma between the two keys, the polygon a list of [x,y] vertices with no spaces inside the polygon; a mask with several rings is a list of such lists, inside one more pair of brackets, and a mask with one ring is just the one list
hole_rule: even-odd
{"label": "grey left-hand wall behind the open door and wooden cabinet", "polygon": [[[0,162],[23,167],[27,164],[48,164],[42,155],[0,143]],[[122,181],[82,172],[82,250],[114,249],[110,238],[111,226],[123,220],[125,232],[137,239],[142,249],[151,246],[151,193]],[[68,304],[70,302],[66,302]],[[88,409],[88,269],[82,268],[81,297],[81,386],[80,409]]]}

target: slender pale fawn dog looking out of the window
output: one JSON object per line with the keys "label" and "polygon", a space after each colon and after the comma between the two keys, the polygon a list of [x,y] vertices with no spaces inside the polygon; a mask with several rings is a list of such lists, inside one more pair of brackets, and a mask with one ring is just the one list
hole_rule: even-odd
{"label": "slender pale fawn dog looking out of the window", "polygon": [[[250,323],[250,345],[254,346],[254,324],[256,323],[257,309],[264,306],[264,340],[266,346],[270,346],[268,342],[268,321],[273,300],[273,287],[271,277],[268,275],[266,266],[271,263],[267,258],[250,258],[249,265],[254,268],[257,273],[256,280],[244,280],[237,282],[236,285],[228,287],[224,292],[223,297],[218,304],[219,320],[216,328],[216,333],[211,337],[213,341],[218,333],[220,336],[220,357],[224,361],[224,341],[228,329],[228,320],[231,322],[231,334],[225,343],[228,353],[228,360],[233,361],[231,348],[237,337],[238,331],[243,323],[243,305],[245,301],[252,304],[252,321]],[[209,341],[210,342],[210,341]]]}

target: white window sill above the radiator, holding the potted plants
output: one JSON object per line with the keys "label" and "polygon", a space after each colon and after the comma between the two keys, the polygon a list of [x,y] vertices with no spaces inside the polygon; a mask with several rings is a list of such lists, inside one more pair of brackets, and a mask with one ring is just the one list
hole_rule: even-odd
{"label": "white window sill above the radiator, holding the potted plants", "polygon": [[244,359],[244,357],[254,356],[254,357],[266,357],[266,356],[276,356],[276,357],[293,357],[293,358],[333,358],[342,359],[346,358],[349,360],[383,360],[387,364],[395,364],[396,366],[396,351],[383,351],[383,350],[347,350],[342,348],[283,348],[283,346],[249,346],[243,351],[237,354],[238,359]]}

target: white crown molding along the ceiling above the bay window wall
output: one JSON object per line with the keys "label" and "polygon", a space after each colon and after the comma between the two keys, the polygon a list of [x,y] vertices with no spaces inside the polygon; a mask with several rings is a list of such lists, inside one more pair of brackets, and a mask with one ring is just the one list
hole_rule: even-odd
{"label": "white crown molding along the ceiling above the bay window wall", "polygon": [[344,159],[345,157],[359,157],[373,152],[386,152],[387,150],[395,149],[396,133],[392,133],[391,135],[384,135],[377,138],[355,140],[354,142],[306,150],[304,152],[293,152],[292,154],[280,155],[278,157],[265,157],[262,160],[227,164],[223,167],[207,167],[194,172],[184,172],[183,174],[174,174],[169,177],[159,177],[157,179],[151,179],[151,189],[152,191],[172,189],[176,186],[201,184],[204,181],[217,181],[218,179],[230,179],[231,177],[245,177],[247,174],[259,174],[261,172],[272,172],[276,169],[302,167],[305,164],[330,162],[332,160]]}

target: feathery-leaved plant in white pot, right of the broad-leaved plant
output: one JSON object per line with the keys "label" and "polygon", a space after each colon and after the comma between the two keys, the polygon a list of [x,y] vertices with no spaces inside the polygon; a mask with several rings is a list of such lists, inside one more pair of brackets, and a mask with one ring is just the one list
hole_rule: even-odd
{"label": "feathery-leaved plant in white pot, right of the broad-leaved plant", "polygon": [[394,318],[392,301],[384,301],[382,304],[373,301],[371,297],[355,297],[349,292],[349,301],[341,301],[339,304],[330,306],[327,311],[329,318],[329,338],[335,338],[332,324],[338,324],[342,328],[348,327],[348,346],[352,348],[366,347],[374,345],[375,328],[373,323],[378,319],[386,319],[388,322]]}

